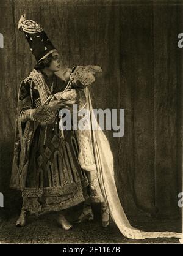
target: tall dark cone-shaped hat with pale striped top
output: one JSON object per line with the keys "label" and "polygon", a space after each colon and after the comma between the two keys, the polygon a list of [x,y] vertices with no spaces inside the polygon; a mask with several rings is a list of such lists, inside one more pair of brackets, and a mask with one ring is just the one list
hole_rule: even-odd
{"label": "tall dark cone-shaped hat with pale striped top", "polygon": [[57,51],[41,26],[33,20],[26,20],[25,15],[21,16],[18,29],[24,31],[30,51],[32,51],[37,61],[41,61],[41,59]]}

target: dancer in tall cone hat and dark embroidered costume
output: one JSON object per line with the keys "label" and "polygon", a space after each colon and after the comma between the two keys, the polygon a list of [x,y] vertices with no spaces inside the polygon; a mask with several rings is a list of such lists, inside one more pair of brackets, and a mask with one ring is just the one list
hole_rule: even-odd
{"label": "dancer in tall cone hat and dark embroidered costume", "polygon": [[[37,60],[35,69],[20,85],[18,118],[10,187],[22,191],[23,206],[16,226],[26,224],[26,215],[51,212],[66,230],[73,226],[64,210],[82,203],[87,197],[88,179],[77,160],[76,136],[72,131],[59,134],[58,111],[62,102],[42,105],[47,94],[65,89],[66,83],[54,75],[60,60],[56,48],[34,21],[21,17],[30,50]],[[40,88],[37,77],[45,83]]]}

